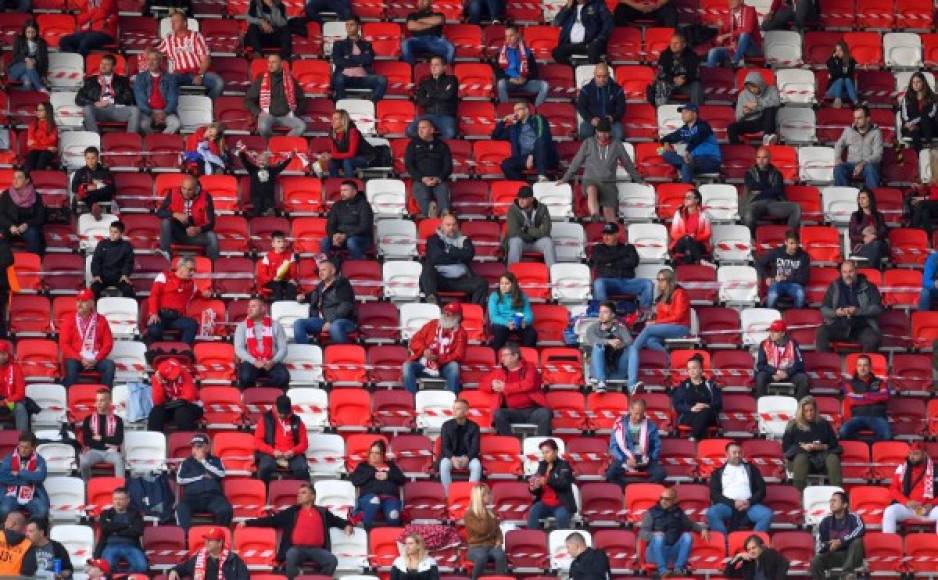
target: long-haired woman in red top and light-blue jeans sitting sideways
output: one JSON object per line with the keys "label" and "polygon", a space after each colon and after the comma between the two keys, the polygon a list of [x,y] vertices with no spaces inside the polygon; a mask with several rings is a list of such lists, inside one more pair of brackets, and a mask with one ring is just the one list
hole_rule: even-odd
{"label": "long-haired woman in red top and light-blue jeans sitting sideways", "polygon": [[658,291],[655,312],[645,321],[645,328],[629,347],[629,393],[635,393],[644,385],[638,380],[638,363],[641,350],[646,345],[652,350],[666,352],[665,340],[690,333],[690,298],[677,285],[674,271],[667,268],[659,270],[655,284]]}

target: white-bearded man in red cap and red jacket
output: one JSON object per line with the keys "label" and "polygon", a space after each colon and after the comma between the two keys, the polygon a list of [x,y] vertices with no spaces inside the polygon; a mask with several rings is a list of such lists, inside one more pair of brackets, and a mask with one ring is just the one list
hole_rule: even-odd
{"label": "white-bearded man in red cap and red jacket", "polygon": [[462,327],[462,304],[450,302],[439,320],[430,320],[410,338],[409,357],[401,371],[401,382],[417,392],[417,379],[443,378],[446,388],[459,393],[459,363],[466,354],[468,337]]}

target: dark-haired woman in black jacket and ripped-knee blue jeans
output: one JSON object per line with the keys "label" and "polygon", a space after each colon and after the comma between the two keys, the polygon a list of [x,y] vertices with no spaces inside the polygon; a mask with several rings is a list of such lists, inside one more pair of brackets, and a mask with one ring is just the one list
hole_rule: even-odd
{"label": "dark-haired woman in black jacket and ripped-knee blue jeans", "polygon": [[397,463],[388,459],[388,447],[383,440],[377,439],[371,444],[368,458],[355,467],[349,481],[358,488],[358,502],[351,511],[352,521],[360,521],[370,530],[381,512],[385,525],[401,524],[401,486],[407,478]]}

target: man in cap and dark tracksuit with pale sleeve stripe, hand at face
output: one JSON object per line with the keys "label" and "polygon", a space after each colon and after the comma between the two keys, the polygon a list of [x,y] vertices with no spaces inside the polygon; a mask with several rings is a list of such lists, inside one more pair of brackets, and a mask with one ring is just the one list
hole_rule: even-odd
{"label": "man in cap and dark tracksuit with pale sleeve stripe, hand at face", "polygon": [[182,488],[176,504],[176,521],[187,530],[192,526],[192,514],[210,513],[215,524],[227,527],[234,517],[231,502],[225,497],[222,480],[225,466],[212,455],[208,435],[192,436],[192,455],[187,457],[176,473],[176,483]]}

